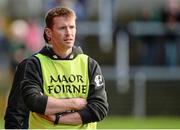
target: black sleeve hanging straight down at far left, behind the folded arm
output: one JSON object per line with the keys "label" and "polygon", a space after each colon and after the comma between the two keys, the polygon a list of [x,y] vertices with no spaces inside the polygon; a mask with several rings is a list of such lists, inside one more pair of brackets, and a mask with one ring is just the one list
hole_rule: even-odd
{"label": "black sleeve hanging straight down at far left, behind the folded arm", "polygon": [[26,129],[28,127],[24,126],[25,121],[28,119],[29,110],[23,101],[22,91],[19,86],[21,74],[22,71],[17,69],[4,116],[5,129]]}

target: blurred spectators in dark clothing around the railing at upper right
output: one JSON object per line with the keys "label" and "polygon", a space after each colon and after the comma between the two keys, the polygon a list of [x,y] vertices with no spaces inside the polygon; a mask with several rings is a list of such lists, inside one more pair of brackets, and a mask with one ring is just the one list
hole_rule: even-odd
{"label": "blurred spectators in dark clothing around the railing at upper right", "polygon": [[[160,22],[165,27],[163,35],[147,35],[142,37],[138,48],[140,65],[165,65],[177,67],[180,64],[180,5],[178,0],[166,0],[165,6],[159,10],[142,8],[137,21]],[[143,27],[142,27],[143,28]],[[154,32],[156,34],[156,32]]]}

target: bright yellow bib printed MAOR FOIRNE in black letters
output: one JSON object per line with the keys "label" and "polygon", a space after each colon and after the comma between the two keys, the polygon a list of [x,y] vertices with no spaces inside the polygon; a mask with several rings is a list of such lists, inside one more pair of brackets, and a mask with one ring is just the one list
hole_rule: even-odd
{"label": "bright yellow bib printed MAOR FOIRNE in black letters", "polygon": [[[53,60],[37,54],[43,77],[44,95],[55,98],[87,99],[89,92],[88,56],[79,54],[72,60]],[[30,128],[48,129],[96,129],[96,122],[86,125],[54,125],[41,115],[30,112]]]}

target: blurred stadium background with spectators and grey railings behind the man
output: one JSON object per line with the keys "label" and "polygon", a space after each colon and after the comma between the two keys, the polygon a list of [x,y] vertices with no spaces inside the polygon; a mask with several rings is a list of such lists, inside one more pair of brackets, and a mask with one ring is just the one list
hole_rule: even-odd
{"label": "blurred stadium background with spectators and grey railings behind the man", "polygon": [[0,128],[16,66],[44,46],[45,12],[59,5],[75,10],[76,45],[102,67],[110,111],[101,126],[151,128],[123,125],[153,117],[180,128],[179,0],[0,0]]}

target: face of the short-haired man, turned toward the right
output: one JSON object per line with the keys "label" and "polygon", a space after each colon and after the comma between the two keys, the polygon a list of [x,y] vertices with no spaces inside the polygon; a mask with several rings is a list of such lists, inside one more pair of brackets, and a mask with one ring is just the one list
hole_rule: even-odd
{"label": "face of the short-haired man, turned toward the right", "polygon": [[70,49],[74,46],[76,22],[74,17],[55,17],[49,37],[55,48]]}

